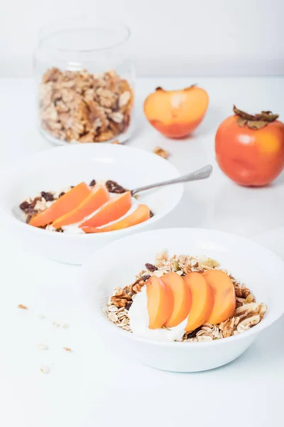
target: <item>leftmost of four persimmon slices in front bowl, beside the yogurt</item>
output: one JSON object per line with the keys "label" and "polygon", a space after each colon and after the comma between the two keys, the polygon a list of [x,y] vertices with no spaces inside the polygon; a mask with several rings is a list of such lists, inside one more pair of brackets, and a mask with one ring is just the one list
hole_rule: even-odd
{"label": "leftmost of four persimmon slices in front bowl, beside the yogurt", "polygon": [[166,320],[173,311],[173,292],[157,276],[152,276],[147,280],[146,292],[148,297],[149,329],[158,329],[165,325]]}

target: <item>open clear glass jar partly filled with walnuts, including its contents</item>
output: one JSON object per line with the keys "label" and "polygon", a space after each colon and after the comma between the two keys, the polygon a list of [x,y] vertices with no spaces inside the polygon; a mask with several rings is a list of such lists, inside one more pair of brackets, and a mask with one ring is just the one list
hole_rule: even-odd
{"label": "open clear glass jar partly filled with walnuts, including its contents", "polygon": [[54,144],[124,142],[133,127],[129,28],[75,18],[40,30],[34,53],[40,132]]}

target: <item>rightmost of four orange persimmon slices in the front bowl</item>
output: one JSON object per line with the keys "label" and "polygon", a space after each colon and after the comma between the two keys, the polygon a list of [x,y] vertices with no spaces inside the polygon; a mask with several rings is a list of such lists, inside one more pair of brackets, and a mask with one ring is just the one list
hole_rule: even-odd
{"label": "rightmost of four orange persimmon slices in the front bowl", "polygon": [[202,275],[211,287],[214,295],[212,312],[206,322],[217,325],[217,323],[229,319],[236,310],[235,288],[231,279],[224,271],[207,270]]}

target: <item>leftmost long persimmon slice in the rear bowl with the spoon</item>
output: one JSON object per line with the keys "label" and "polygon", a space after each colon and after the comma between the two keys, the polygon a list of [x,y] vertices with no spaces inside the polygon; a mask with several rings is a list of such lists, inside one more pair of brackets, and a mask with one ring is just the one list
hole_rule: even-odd
{"label": "leftmost long persimmon slice in the rear bowl with the spoon", "polygon": [[53,223],[55,219],[79,206],[89,196],[90,192],[89,186],[85,182],[81,182],[55,200],[49,208],[33,216],[29,224],[34,227],[43,227]]}

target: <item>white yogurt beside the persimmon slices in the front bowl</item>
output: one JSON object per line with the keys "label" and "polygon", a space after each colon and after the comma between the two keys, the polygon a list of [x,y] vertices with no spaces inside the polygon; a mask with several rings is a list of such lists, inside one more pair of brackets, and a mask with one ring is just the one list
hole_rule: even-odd
{"label": "white yogurt beside the persimmon slices in the front bowl", "polygon": [[149,317],[147,309],[146,286],[143,286],[141,292],[136,294],[131,307],[129,308],[129,325],[133,334],[144,338],[155,339],[156,341],[181,341],[185,334],[187,319],[183,320],[180,325],[169,329],[149,329]]}

